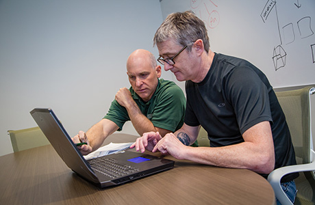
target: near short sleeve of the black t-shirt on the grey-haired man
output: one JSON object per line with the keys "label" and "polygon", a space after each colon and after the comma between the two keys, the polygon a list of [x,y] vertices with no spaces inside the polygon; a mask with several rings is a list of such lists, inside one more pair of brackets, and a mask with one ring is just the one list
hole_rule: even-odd
{"label": "near short sleeve of the black t-shirt on the grey-haired man", "polygon": [[268,89],[250,68],[240,66],[227,76],[225,96],[234,107],[240,133],[263,121],[272,122]]}

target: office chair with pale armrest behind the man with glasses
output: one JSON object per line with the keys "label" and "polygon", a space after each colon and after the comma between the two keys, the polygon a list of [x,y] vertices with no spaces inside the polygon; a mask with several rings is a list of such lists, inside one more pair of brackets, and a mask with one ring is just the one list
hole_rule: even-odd
{"label": "office chair with pale armrest behind the man with glasses", "polygon": [[275,196],[281,204],[292,204],[281,189],[282,176],[294,172],[300,173],[295,180],[297,184],[297,197],[294,204],[314,204],[315,198],[315,152],[312,142],[312,123],[310,112],[310,95],[315,88],[307,86],[299,90],[276,92],[281,108],[286,115],[292,143],[297,158],[297,165],[280,167],[268,176]]}

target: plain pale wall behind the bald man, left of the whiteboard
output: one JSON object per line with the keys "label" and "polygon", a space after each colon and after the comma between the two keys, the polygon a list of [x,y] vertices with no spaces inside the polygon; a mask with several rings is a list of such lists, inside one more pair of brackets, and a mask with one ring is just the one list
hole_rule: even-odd
{"label": "plain pale wall behind the bald man, left of the whiteboard", "polygon": [[129,54],[158,56],[161,23],[158,0],[0,1],[0,156],[12,152],[6,131],[36,126],[35,107],[51,107],[71,136],[98,122],[129,87]]}

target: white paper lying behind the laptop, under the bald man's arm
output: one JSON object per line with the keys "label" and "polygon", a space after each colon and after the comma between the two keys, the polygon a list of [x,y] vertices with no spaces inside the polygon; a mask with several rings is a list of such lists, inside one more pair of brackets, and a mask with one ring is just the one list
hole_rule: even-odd
{"label": "white paper lying behind the laptop, under the bald man's arm", "polygon": [[131,144],[133,144],[133,142],[128,142],[128,143],[112,143],[111,142],[108,145],[98,148],[94,152],[91,152],[90,154],[84,156],[84,158],[86,160],[95,159],[99,156],[105,156],[105,155],[114,154],[118,152],[125,152],[125,150],[129,149]]}

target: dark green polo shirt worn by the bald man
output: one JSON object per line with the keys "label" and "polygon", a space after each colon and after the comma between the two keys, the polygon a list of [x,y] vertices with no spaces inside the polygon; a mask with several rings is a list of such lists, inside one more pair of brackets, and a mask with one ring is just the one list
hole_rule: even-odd
{"label": "dark green polo shirt worn by the bald man", "polygon": [[[148,102],[144,102],[132,87],[129,91],[140,111],[151,120],[155,127],[172,132],[181,128],[184,123],[186,98],[181,88],[173,81],[159,79],[157,88]],[[117,124],[118,131],[121,131],[125,122],[130,120],[127,109],[119,105],[116,100],[112,101],[104,118]]]}

